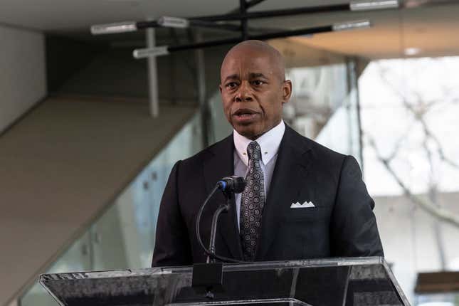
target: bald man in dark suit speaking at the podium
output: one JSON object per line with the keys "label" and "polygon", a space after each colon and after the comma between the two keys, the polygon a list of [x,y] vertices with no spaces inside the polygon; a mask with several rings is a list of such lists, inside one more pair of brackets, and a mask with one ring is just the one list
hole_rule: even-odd
{"label": "bald man in dark suit speaking at the podium", "polygon": [[[357,161],[284,124],[292,93],[280,53],[267,43],[234,46],[221,65],[223,110],[234,132],[174,165],[163,194],[153,266],[205,262],[196,213],[216,182],[246,177],[246,189],[221,216],[216,253],[238,260],[383,256],[374,201]],[[201,219],[208,246],[218,193]]]}

